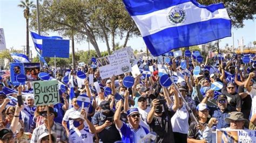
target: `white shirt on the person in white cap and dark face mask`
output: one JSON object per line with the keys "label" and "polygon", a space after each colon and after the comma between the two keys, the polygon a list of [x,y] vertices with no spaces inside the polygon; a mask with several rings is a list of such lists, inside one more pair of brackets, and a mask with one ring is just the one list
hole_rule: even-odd
{"label": "white shirt on the person in white cap and dark face mask", "polygon": [[78,128],[73,128],[69,132],[69,142],[70,143],[83,143],[83,142],[93,142],[93,134],[89,131],[89,126],[87,124],[82,130]]}

